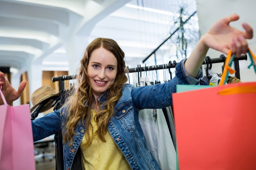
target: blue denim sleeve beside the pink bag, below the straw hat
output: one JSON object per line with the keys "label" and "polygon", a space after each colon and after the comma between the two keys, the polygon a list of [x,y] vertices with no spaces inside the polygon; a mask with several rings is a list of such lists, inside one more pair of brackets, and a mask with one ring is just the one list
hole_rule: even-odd
{"label": "blue denim sleeve beside the pink bag, below the straw hat", "polygon": [[61,128],[60,110],[31,121],[34,141],[55,134]]}

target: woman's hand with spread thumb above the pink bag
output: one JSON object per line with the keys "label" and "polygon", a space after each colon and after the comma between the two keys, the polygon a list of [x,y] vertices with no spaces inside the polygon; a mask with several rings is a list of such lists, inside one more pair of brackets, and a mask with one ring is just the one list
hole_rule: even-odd
{"label": "woman's hand with spread thumb above the pink bag", "polygon": [[[2,89],[2,93],[4,94],[6,102],[9,105],[12,105],[12,102],[17,100],[20,97],[22,91],[25,89],[26,84],[27,84],[26,81],[22,81],[20,83],[18,90],[16,91],[13,88],[13,86],[11,86],[9,81],[4,77],[4,73],[0,72],[0,87]],[[0,96],[0,104],[3,104],[1,96]]]}

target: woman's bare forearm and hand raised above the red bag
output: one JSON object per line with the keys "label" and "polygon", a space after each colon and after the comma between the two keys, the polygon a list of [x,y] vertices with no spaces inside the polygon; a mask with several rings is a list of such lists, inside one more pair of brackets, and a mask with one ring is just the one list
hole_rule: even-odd
{"label": "woman's bare forearm and hand raised above the red bag", "polygon": [[248,44],[246,39],[252,39],[253,30],[247,23],[242,24],[245,31],[240,31],[229,26],[230,22],[237,21],[238,19],[239,16],[237,14],[222,18],[216,21],[207,33],[200,38],[184,65],[189,75],[192,77],[197,75],[209,48],[225,54],[227,54],[229,50],[232,50],[232,53],[235,53],[236,57],[247,52]]}

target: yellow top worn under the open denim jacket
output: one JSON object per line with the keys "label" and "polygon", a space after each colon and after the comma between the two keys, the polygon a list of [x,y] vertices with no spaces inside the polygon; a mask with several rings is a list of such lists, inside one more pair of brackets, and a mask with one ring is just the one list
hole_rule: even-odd
{"label": "yellow top worn under the open denim jacket", "polygon": [[[97,124],[94,121],[95,111],[92,110],[91,124],[93,133],[97,130]],[[90,135],[92,128],[89,126]],[[104,136],[106,142],[101,141],[97,135],[94,135],[92,144],[84,148],[85,136],[81,141],[81,161],[83,170],[131,170],[130,165],[118,148],[115,141],[107,132]]]}

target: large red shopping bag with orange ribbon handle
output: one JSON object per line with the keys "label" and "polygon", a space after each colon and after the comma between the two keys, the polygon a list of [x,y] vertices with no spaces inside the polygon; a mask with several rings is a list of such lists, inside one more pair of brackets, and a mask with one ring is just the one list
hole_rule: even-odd
{"label": "large red shopping bag with orange ribbon handle", "polygon": [[173,94],[180,170],[256,170],[256,82]]}

